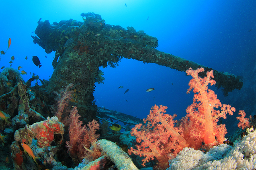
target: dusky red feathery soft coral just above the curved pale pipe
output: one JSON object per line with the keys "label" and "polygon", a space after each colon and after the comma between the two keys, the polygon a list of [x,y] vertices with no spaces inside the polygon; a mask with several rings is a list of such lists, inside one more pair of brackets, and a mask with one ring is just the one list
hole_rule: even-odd
{"label": "dusky red feathery soft coral just above the curved pale pipe", "polygon": [[85,157],[92,161],[100,155],[95,147],[94,151],[89,149],[92,145],[96,146],[97,138],[99,137],[99,134],[96,134],[96,130],[99,129],[99,124],[96,120],[92,120],[87,124],[87,128],[86,125],[82,126],[83,123],[79,120],[80,117],[77,108],[74,107],[70,113],[70,141],[66,142],[66,146],[75,163],[82,162]]}

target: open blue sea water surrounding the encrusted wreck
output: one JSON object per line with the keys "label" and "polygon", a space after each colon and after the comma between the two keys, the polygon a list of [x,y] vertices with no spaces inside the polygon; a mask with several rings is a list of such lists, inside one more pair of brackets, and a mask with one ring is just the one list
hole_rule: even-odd
{"label": "open blue sea water surrounding the encrusted wreck", "polygon": [[[48,80],[53,73],[51,63],[55,52],[46,54],[31,38],[36,36],[39,18],[51,24],[70,18],[82,21],[82,12],[94,12],[100,14],[106,24],[132,26],[158,38],[160,51],[242,76],[242,90],[229,92],[227,97],[220,89],[211,88],[223,104],[245,110],[247,115],[255,112],[254,0],[12,0],[2,1],[1,6],[0,50],[6,51],[8,38],[12,44],[6,54],[1,55],[0,68],[9,67],[14,56],[11,67],[22,66],[21,70],[28,73],[23,75],[25,80],[33,73]],[[41,68],[33,64],[32,56],[39,57]],[[100,107],[146,118],[154,104],[162,104],[168,107],[168,114],[176,113],[179,119],[186,115],[186,107],[193,102],[193,94],[186,94],[192,77],[184,72],[125,58],[116,68],[100,70],[104,72],[104,84],[96,84],[94,92]],[[118,89],[119,86],[124,88]],[[153,87],[155,91],[146,92]],[[129,92],[124,94],[128,88]],[[228,131],[237,127],[233,126],[236,116],[237,113],[228,116]]]}

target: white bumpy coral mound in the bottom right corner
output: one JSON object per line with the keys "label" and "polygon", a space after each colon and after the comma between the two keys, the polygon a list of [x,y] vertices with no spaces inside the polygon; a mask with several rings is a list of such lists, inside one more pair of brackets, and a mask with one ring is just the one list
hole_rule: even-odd
{"label": "white bumpy coral mound in the bottom right corner", "polygon": [[193,148],[183,148],[169,160],[168,170],[252,170],[256,169],[256,132],[244,136],[234,146],[222,144],[203,154]]}

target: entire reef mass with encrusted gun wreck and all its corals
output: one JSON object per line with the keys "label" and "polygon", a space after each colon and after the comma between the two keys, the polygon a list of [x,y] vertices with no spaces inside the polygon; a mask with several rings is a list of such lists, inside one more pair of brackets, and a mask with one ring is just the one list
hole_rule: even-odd
{"label": "entire reef mass with encrusted gun wreck and all its corals", "polygon": [[[47,53],[56,51],[52,63],[55,70],[49,82],[34,74],[24,82],[18,70],[12,68],[5,68],[0,73],[0,110],[1,118],[4,118],[0,121],[0,149],[4,151],[4,157],[11,152],[9,156],[14,170],[72,170],[79,163],[76,170],[137,170],[125,153],[132,144],[137,144],[137,148],[131,148],[129,153],[145,156],[143,165],[155,158],[158,160],[154,168],[166,168],[168,159],[172,159],[169,160],[172,169],[224,168],[226,165],[230,169],[255,168],[256,132],[250,126],[246,129],[248,135],[235,146],[222,144],[225,126],[217,125],[217,121],[225,118],[227,113],[232,114],[234,108],[221,104],[208,89],[208,85],[216,81],[216,86],[224,88],[227,95],[235,88],[242,88],[239,78],[160,52],[154,49],[158,46],[157,38],[144,31],[111,26],[92,12],[81,16],[86,17],[84,22],[70,19],[51,25],[48,20],[38,21],[35,30],[38,37],[32,36],[34,42]],[[186,110],[187,116],[175,121],[176,115],[164,114],[167,107],[154,106],[147,119],[142,121],[97,108],[93,102],[95,83],[104,81],[104,73],[99,67],[115,67],[123,57],[180,71],[201,68],[186,72],[193,76],[188,92],[192,89],[195,92],[193,104]],[[35,86],[31,86],[32,81],[36,81]],[[42,86],[38,86],[38,81]],[[255,120],[248,122],[243,111],[239,114],[238,126],[246,128],[255,124]],[[127,125],[122,126],[125,132],[111,132],[111,122],[104,118],[123,122]],[[102,120],[102,123],[98,124],[96,120]],[[135,128],[129,133],[131,125]],[[221,145],[214,146],[207,154],[195,150],[207,151],[218,144]],[[26,150],[34,160],[25,154]]]}

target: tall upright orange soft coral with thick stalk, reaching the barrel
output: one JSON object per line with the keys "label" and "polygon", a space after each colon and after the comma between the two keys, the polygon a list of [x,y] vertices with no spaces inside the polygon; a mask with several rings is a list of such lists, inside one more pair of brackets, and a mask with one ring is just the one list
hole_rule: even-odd
{"label": "tall upright orange soft coral with thick stalk, reaching the barrel", "polygon": [[[193,104],[188,106],[186,112],[192,122],[198,122],[200,128],[203,131],[205,144],[215,145],[215,137],[219,143],[222,143],[224,136],[227,133],[225,125],[217,125],[219,118],[226,118],[226,114],[232,115],[236,111],[235,108],[227,104],[221,104],[217,99],[217,95],[213,90],[208,89],[208,84],[215,84],[213,80],[213,70],[207,72],[207,76],[201,78],[198,76],[200,72],[203,72],[204,68],[198,68],[193,70],[192,68],[186,71],[186,74],[193,77],[189,82],[190,88],[187,93],[192,89],[195,93],[193,98]],[[215,108],[221,108],[221,110],[215,110]],[[197,128],[197,127],[195,127]]]}

